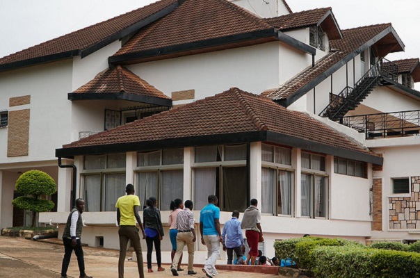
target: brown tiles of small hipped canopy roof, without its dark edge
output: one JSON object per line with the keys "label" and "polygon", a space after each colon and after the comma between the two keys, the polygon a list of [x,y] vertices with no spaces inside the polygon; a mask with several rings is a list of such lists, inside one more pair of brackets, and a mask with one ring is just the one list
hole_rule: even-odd
{"label": "brown tiles of small hipped canopy roof, without its dark edge", "polygon": [[127,92],[134,95],[170,99],[163,92],[120,65],[104,70],[104,72],[95,76],[95,79],[74,91],[75,94],[92,92],[98,94]]}

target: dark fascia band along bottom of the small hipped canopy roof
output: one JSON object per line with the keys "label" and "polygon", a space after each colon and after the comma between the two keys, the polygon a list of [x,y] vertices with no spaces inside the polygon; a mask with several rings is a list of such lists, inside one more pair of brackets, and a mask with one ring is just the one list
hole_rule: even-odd
{"label": "dark fascia band along bottom of the small hipped canopy roof", "polygon": [[77,100],[117,100],[136,101],[143,104],[155,104],[158,106],[172,107],[172,99],[161,99],[159,97],[148,97],[145,95],[130,94],[128,92],[83,92],[67,94],[67,98],[72,101]]}

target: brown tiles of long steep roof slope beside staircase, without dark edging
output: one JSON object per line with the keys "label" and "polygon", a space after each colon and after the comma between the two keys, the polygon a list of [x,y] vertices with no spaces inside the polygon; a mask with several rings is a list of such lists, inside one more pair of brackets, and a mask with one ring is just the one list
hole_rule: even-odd
{"label": "brown tiles of long steep roof slope beside staircase, without dark edging", "polygon": [[[291,79],[287,83],[284,83],[284,85],[280,86],[280,88],[266,90],[261,95],[270,97],[270,99],[274,100],[291,97],[298,90],[304,88],[304,86],[309,82],[319,76],[323,76],[323,74],[325,75],[326,70],[330,69],[330,67],[336,65],[337,63],[340,63],[346,56],[362,47],[363,44],[390,26],[391,24],[378,24],[342,31],[343,38],[341,40],[330,41],[330,48],[337,49],[337,51],[327,54],[324,58],[319,60],[314,67],[308,67],[303,72],[300,72],[295,78]],[[325,76],[325,78],[326,77],[327,76]],[[307,88],[307,90],[311,89],[312,88]]]}

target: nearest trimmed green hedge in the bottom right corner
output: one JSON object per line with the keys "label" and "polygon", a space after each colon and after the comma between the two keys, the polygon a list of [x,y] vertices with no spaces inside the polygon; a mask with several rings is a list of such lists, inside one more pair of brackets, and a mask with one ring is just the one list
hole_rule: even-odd
{"label": "nearest trimmed green hedge in the bottom right corner", "polygon": [[317,278],[420,278],[420,254],[355,246],[321,246],[311,252]]}

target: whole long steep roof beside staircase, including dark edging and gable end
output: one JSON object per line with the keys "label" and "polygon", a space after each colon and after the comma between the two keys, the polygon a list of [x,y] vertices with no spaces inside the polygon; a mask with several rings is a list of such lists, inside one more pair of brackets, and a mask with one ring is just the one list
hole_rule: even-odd
{"label": "whole long steep roof beside staircase, including dark edging and gable end", "polygon": [[404,49],[404,45],[391,24],[378,24],[344,30],[341,40],[330,41],[330,48],[334,51],[318,60],[314,67],[307,67],[306,70],[284,83],[280,88],[266,90],[261,95],[270,97],[270,99],[287,107],[362,51],[382,40],[394,42],[394,44],[387,43],[387,46],[394,47],[389,51]]}

